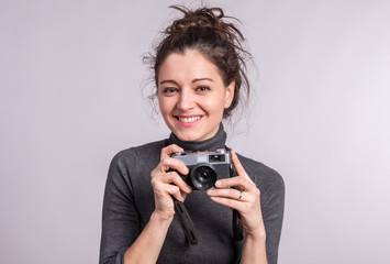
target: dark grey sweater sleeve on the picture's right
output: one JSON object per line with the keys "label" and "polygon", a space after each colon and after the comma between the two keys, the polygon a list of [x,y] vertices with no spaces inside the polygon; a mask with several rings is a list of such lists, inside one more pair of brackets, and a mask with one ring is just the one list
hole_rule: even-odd
{"label": "dark grey sweater sleeve on the picture's right", "polygon": [[261,190],[261,212],[267,232],[266,246],[268,264],[278,263],[278,250],[283,221],[285,209],[285,182],[281,176],[272,170],[267,179],[267,188]]}

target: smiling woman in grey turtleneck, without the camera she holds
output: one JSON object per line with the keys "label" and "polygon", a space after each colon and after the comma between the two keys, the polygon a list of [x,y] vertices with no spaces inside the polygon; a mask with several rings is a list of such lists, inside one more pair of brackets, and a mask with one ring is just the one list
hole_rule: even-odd
{"label": "smiling woman in grey turtleneck, without the camera she holds", "polygon": [[[171,155],[226,148],[222,119],[249,89],[243,36],[218,8],[183,13],[153,57],[160,113],[169,139],[120,152],[105,186],[100,263],[277,263],[285,186],[278,173],[231,152],[234,177],[193,190]],[[247,90],[248,91],[248,90]],[[232,188],[231,188],[232,187]],[[175,217],[183,201],[198,233],[191,245]],[[245,239],[232,234],[238,211]]]}

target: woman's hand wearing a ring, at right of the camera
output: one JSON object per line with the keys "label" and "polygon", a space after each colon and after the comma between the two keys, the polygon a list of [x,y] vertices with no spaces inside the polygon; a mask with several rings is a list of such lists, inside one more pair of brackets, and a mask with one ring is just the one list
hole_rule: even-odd
{"label": "woman's hand wearing a ring, at right of the camera", "polygon": [[[215,189],[209,189],[208,195],[213,201],[236,209],[239,212],[241,222],[247,237],[265,237],[260,190],[246,174],[235,152],[232,151],[231,154],[238,176],[218,180]],[[242,190],[231,187],[239,187]]]}

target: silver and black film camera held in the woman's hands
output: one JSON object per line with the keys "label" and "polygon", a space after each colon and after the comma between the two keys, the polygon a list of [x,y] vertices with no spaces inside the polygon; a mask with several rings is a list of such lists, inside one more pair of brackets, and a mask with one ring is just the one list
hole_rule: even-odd
{"label": "silver and black film camera held in the woman's hands", "polygon": [[194,190],[207,190],[221,178],[233,176],[231,154],[219,148],[215,152],[180,152],[171,157],[182,161],[189,169],[187,175],[179,174]]}

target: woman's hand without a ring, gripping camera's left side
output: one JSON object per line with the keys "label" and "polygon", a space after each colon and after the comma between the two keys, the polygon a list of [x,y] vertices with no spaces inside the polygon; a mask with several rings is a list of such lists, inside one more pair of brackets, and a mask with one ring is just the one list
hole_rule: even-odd
{"label": "woman's hand without a ring, gripping camera's left side", "polygon": [[[172,153],[183,150],[176,145],[168,145],[161,150],[160,162],[152,170],[152,186],[155,194],[155,213],[160,218],[169,220],[175,215],[174,196],[177,200],[183,201],[187,194],[191,193],[191,187],[182,180],[182,175],[188,174],[188,168],[183,162],[170,157]],[[175,172],[177,170],[177,172]]]}

